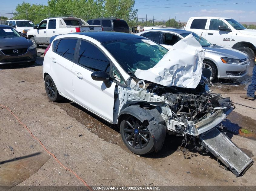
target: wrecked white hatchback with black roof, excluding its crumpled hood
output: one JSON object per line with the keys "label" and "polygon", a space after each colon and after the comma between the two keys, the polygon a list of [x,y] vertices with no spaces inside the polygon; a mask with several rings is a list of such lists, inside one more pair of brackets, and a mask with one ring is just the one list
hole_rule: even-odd
{"label": "wrecked white hatchback with black roof, excluding its crumpled hood", "polygon": [[205,90],[204,77],[192,89],[165,87],[134,75],[138,68],[154,67],[167,52],[129,33],[59,35],[45,52],[45,90],[52,101],[63,96],[118,124],[132,152],[159,151],[166,133],[200,136],[233,110],[229,98]]}

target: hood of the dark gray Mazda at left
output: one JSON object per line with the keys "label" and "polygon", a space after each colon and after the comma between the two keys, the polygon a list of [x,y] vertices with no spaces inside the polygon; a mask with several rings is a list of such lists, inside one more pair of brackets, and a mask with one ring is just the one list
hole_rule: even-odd
{"label": "hood of the dark gray Mazda at left", "polygon": [[0,47],[7,46],[28,46],[28,39],[25,37],[0,38]]}

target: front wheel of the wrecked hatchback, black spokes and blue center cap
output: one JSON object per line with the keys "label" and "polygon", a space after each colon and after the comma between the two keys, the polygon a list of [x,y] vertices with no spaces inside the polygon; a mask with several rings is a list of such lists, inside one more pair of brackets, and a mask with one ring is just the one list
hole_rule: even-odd
{"label": "front wheel of the wrecked hatchback, black spokes and blue center cap", "polygon": [[154,151],[154,141],[147,129],[148,122],[141,122],[132,115],[126,115],[120,123],[120,132],[127,148],[135,154],[148,154]]}

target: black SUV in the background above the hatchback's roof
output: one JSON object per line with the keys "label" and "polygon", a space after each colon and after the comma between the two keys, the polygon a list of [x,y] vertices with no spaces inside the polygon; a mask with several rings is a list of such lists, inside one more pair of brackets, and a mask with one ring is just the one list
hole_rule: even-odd
{"label": "black SUV in the background above the hatchback's roof", "polygon": [[90,25],[101,25],[102,31],[130,33],[127,22],[122,19],[91,19],[87,23]]}

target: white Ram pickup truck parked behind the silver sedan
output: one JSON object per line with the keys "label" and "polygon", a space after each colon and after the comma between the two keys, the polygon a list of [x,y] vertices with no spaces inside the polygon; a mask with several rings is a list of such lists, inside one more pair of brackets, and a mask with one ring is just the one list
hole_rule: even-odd
{"label": "white Ram pickup truck parked behind the silver sedan", "polygon": [[246,29],[238,21],[224,17],[191,17],[185,30],[197,33],[209,42],[256,55],[256,30]]}

